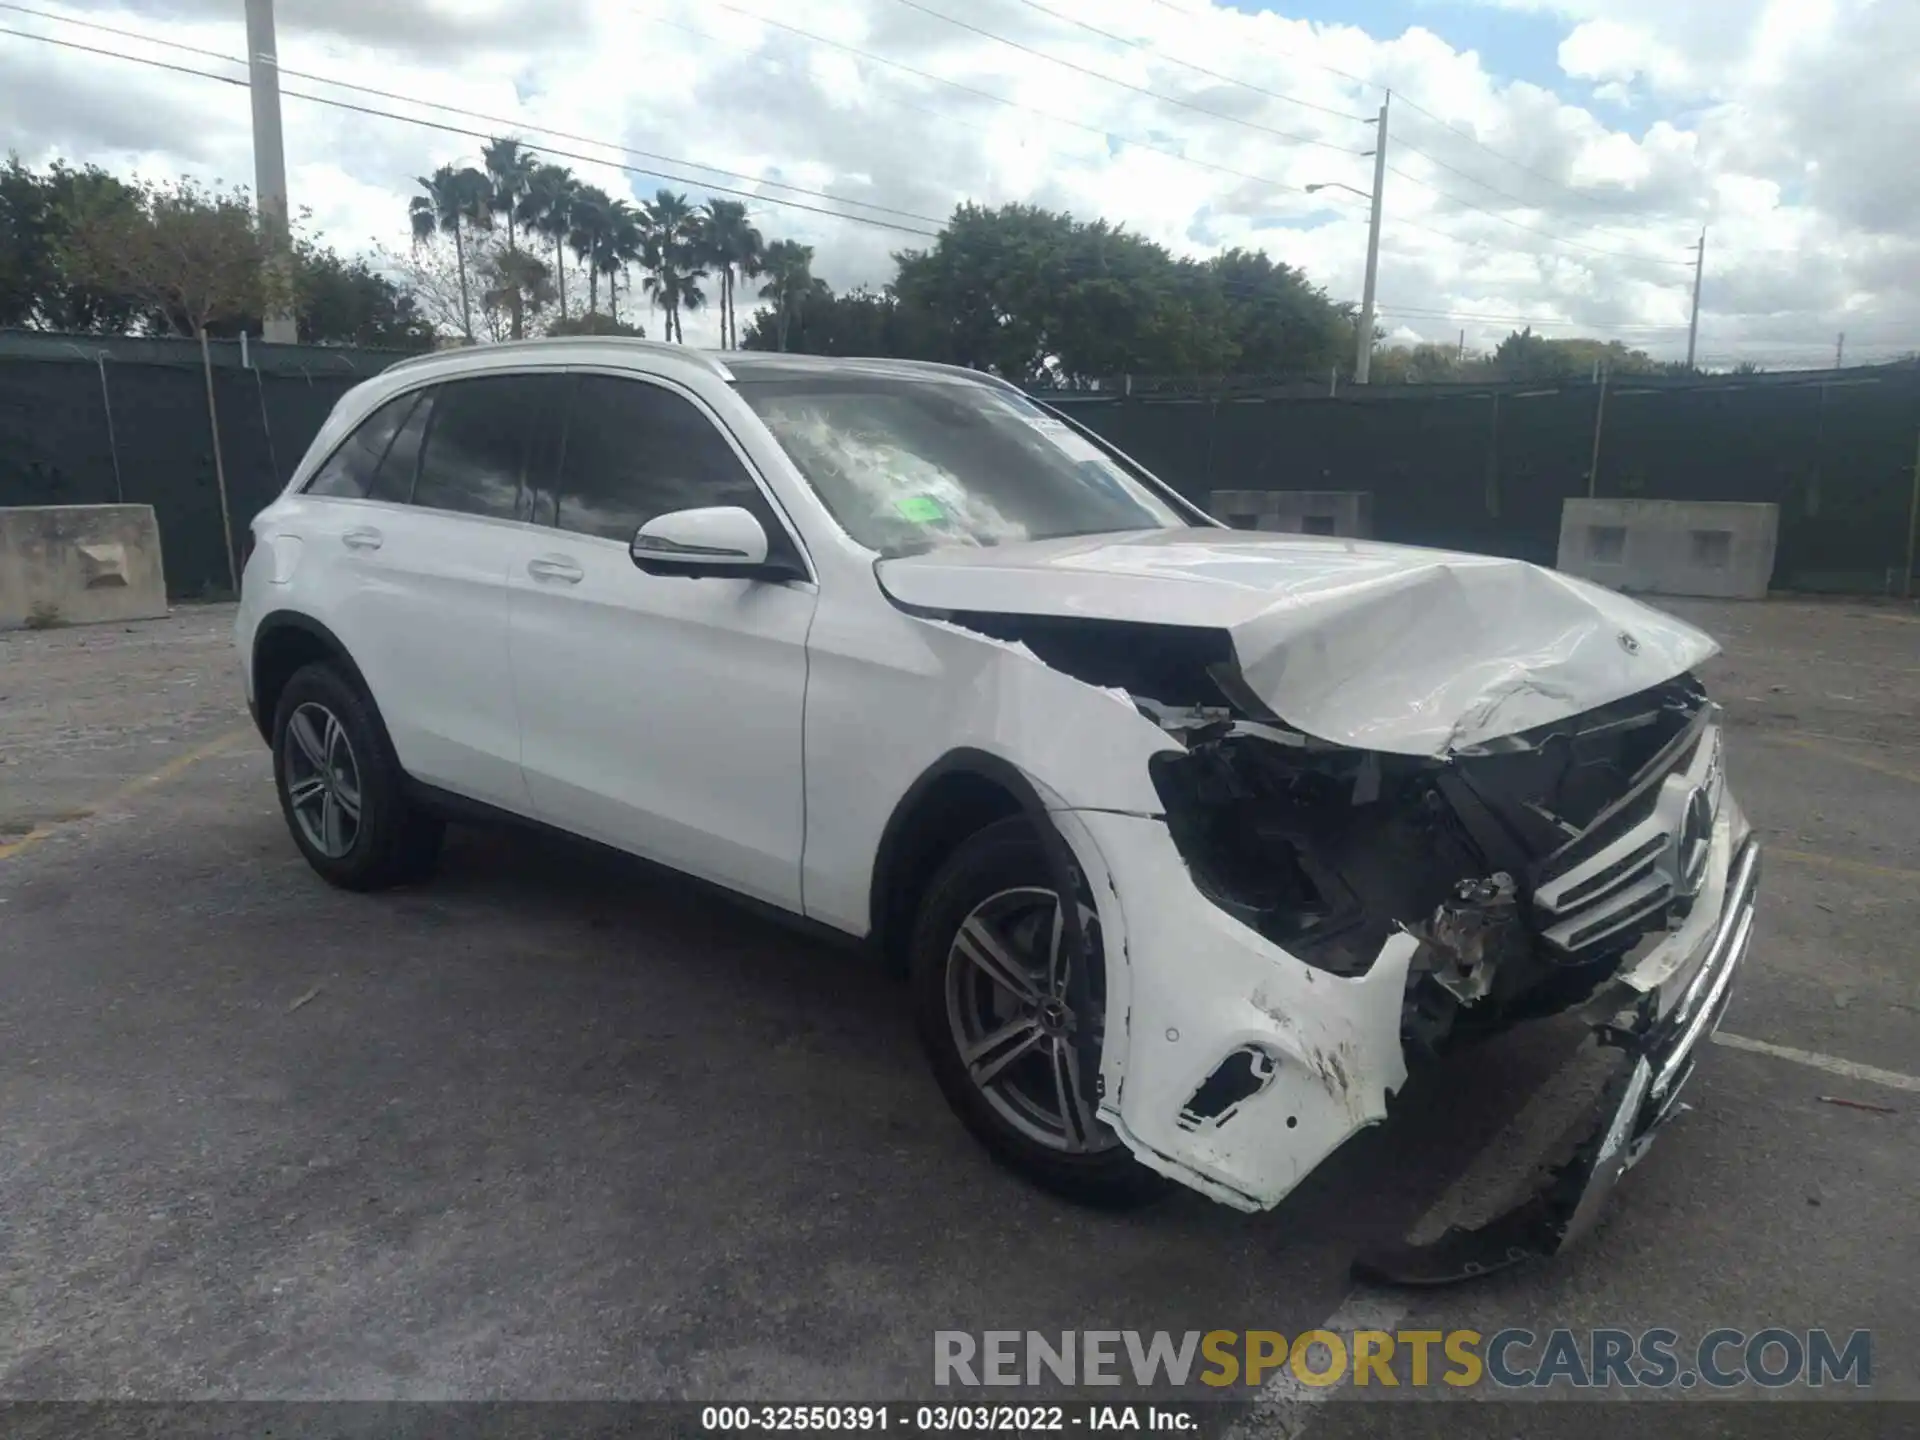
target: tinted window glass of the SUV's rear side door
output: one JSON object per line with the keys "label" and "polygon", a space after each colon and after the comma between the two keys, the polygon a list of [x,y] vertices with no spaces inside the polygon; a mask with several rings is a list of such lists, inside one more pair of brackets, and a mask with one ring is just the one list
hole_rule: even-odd
{"label": "tinted window glass of the SUV's rear side door", "polygon": [[459,515],[524,520],[557,424],[559,374],[488,374],[434,390],[413,503]]}

